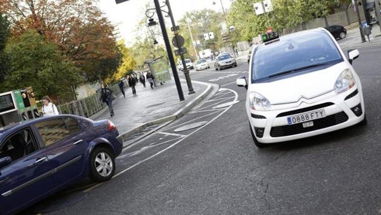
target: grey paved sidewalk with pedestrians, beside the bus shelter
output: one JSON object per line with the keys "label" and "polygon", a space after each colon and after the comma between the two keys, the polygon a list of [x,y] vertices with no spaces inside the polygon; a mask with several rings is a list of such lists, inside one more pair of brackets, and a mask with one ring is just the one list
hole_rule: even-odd
{"label": "grey paved sidewalk with pedestrians, beside the bus shelter", "polygon": [[[124,137],[138,133],[142,129],[152,124],[163,123],[173,120],[185,108],[190,109],[200,100],[205,98],[211,92],[211,84],[194,82],[192,85],[195,94],[188,95],[188,87],[185,80],[181,80],[182,90],[184,92],[184,101],[179,100],[178,92],[174,81],[165,82],[162,86],[160,83],[157,87],[151,89],[147,82],[146,88],[142,84],[136,86],[136,94],[132,95],[132,90],[126,90],[126,97],[119,94],[113,102],[114,117],[110,117],[109,110],[104,110],[98,116],[92,117],[93,120],[111,120],[118,128],[120,134]],[[197,98],[197,100],[195,100]],[[189,107],[191,106],[191,107]],[[168,116],[171,116],[168,118]],[[166,118],[164,120],[159,120]],[[154,123],[152,122],[156,121]]]}

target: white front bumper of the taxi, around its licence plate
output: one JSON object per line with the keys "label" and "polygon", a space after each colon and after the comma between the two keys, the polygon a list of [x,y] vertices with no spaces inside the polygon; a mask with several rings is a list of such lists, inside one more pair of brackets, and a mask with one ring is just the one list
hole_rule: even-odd
{"label": "white front bumper of the taxi, around its licence plate", "polygon": [[[319,102],[315,102],[310,105],[304,105],[303,107],[274,111],[254,111],[248,108],[248,117],[250,119],[251,129],[253,130],[258,142],[274,143],[311,137],[352,126],[360,123],[364,119],[365,115],[365,107],[362,92],[360,90],[357,90],[358,93],[353,97],[344,100],[347,96],[354,93],[355,90],[356,89],[351,89],[348,92],[344,92],[328,99],[320,100]],[[303,123],[288,125],[287,118],[295,114],[290,113],[290,115],[279,116],[280,113],[315,107],[315,105],[328,105],[328,103],[332,104],[327,107],[317,107],[316,109],[301,112],[307,113],[314,110],[325,110],[326,116],[318,120],[312,120],[314,122],[314,126],[308,128],[303,128]],[[357,105],[360,105],[362,111],[359,116],[356,116],[354,111],[351,110],[351,108],[354,108]],[[264,116],[266,118],[258,118],[259,116]],[[263,131],[261,132],[260,129],[263,129]]]}

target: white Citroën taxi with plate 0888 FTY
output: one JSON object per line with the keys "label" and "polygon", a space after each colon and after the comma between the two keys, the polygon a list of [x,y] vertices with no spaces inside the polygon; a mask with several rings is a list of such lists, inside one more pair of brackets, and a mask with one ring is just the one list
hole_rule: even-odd
{"label": "white Citro\u00ebn taxi with plate 0888 FTY", "polygon": [[325,29],[264,34],[250,58],[246,112],[257,147],[366,124],[360,78]]}

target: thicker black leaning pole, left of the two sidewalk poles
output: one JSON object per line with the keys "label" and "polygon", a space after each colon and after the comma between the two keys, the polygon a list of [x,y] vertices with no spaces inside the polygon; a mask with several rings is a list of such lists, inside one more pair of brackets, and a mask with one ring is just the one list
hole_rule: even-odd
{"label": "thicker black leaning pole, left of the two sidewalk poles", "polygon": [[[164,37],[165,47],[166,47],[166,50],[168,52],[168,60],[169,60],[169,62],[171,64],[174,82],[176,83],[177,92],[179,94],[180,101],[184,101],[185,100],[184,93],[182,92],[179,75],[178,75],[177,69],[176,69],[176,63],[174,62],[172,48],[171,48],[170,41],[168,39],[168,34],[166,32],[164,18],[163,18],[163,13],[162,13],[162,10],[160,8],[160,3],[159,3],[158,0],[154,0],[154,2],[155,2],[155,8],[156,8],[156,13],[157,13],[157,18],[159,19],[160,28],[162,29],[162,33],[163,33],[163,37]],[[189,74],[188,74],[188,76],[189,76]]]}

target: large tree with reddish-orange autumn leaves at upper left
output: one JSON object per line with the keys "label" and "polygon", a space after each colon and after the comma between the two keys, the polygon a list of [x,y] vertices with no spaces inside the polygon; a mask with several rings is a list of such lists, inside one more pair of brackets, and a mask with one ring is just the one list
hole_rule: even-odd
{"label": "large tree with reddish-orange autumn leaves at upper left", "polygon": [[79,66],[86,81],[99,81],[116,71],[120,52],[114,26],[93,0],[0,0],[0,12],[15,36],[35,29]]}

